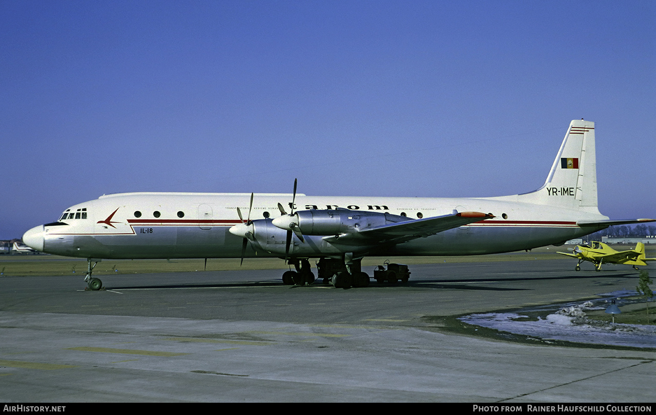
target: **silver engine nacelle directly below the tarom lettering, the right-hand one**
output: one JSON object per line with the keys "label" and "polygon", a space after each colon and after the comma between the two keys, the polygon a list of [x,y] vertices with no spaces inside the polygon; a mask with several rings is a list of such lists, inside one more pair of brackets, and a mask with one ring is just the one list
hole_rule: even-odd
{"label": "silver engine nacelle directly below the tarom lettering, the right-hand one", "polygon": [[294,215],[278,217],[272,223],[285,230],[297,228],[303,235],[331,236],[409,220],[405,216],[391,213],[337,208],[302,210]]}

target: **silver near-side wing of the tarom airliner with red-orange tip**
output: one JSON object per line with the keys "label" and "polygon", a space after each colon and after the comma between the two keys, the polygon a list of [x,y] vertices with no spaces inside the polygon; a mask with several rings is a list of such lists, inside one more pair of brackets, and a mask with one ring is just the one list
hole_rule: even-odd
{"label": "silver near-side wing of the tarom airliner with red-orange tip", "polygon": [[417,238],[426,238],[427,236],[438,234],[445,230],[457,228],[458,226],[467,225],[469,223],[484,221],[485,219],[491,219],[493,217],[494,215],[491,215],[490,213],[459,212],[451,215],[427,217],[424,219],[415,219],[400,223],[390,223],[389,225],[382,225],[377,228],[361,230],[357,234],[348,234],[340,236],[339,238],[329,236],[324,239],[328,242],[337,242],[338,239],[341,244],[359,244],[362,242],[368,244],[390,242],[401,244],[402,242],[407,242]]}

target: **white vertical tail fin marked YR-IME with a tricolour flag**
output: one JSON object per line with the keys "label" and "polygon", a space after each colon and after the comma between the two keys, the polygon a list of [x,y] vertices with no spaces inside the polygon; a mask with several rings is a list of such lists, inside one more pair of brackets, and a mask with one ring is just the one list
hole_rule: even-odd
{"label": "white vertical tail fin marked YR-IME with a tricolour flag", "polygon": [[518,200],[600,214],[594,122],[573,120],[569,123],[543,187],[519,195]]}

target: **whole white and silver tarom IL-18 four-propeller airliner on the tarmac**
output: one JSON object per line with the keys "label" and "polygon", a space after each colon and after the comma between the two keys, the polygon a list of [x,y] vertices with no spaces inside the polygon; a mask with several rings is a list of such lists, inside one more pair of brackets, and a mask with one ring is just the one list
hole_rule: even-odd
{"label": "whole white and silver tarom IL-18 four-propeller airliner on the tarmac", "polygon": [[[85,281],[102,259],[278,257],[283,283],[318,275],[335,287],[365,287],[366,256],[482,255],[562,245],[610,225],[597,206],[594,122],[573,120],[544,185],[487,198],[307,196],[269,193],[134,192],[71,206],[57,221],[31,228],[24,244],[81,257]],[[92,262],[94,264],[92,265]],[[206,262],[207,263],[207,262]],[[294,266],[294,270],[291,269]]]}

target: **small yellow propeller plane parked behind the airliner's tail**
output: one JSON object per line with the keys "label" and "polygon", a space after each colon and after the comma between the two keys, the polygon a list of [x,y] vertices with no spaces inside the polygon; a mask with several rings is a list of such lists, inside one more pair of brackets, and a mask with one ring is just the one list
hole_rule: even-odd
{"label": "small yellow propeller plane parked behind the airliner's tail", "polygon": [[[571,249],[571,248],[570,248]],[[645,257],[645,244],[638,242],[636,249],[629,249],[628,251],[615,251],[603,242],[590,242],[589,244],[576,245],[572,249],[574,253],[559,252],[562,255],[579,259],[576,264],[575,270],[581,271],[581,262],[590,261],[594,264],[596,270],[602,270],[602,264],[626,264],[633,265],[633,268],[638,269],[636,265],[646,266],[646,261],[656,261],[656,258]]]}

